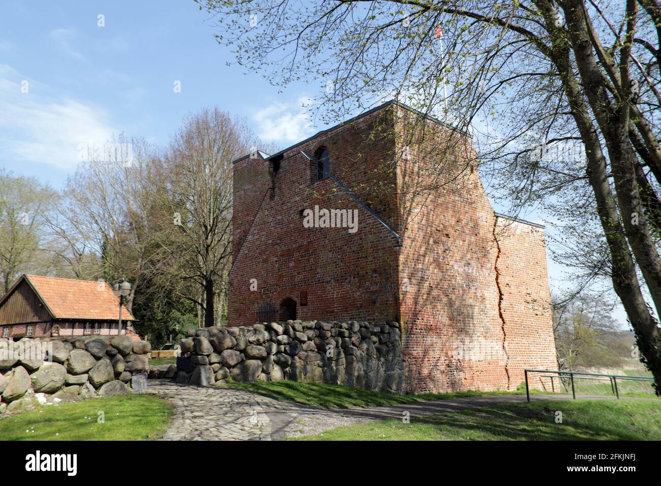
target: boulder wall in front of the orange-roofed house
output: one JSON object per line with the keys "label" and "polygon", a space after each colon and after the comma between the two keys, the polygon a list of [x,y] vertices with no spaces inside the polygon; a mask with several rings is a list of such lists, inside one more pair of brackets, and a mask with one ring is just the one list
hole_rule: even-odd
{"label": "boulder wall in front of the orange-roofed house", "polygon": [[[80,398],[145,393],[149,350],[149,343],[136,343],[128,336],[0,340],[0,413]],[[35,359],[40,356],[45,359]]]}

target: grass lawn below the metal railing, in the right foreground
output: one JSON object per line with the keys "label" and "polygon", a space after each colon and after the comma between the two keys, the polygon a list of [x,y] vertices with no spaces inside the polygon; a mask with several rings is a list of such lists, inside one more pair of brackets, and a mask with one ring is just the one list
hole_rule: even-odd
{"label": "grass lawn below the metal railing, in the right foreground", "polygon": [[[563,423],[555,423],[555,413]],[[504,403],[424,418],[384,420],[297,440],[661,440],[654,401],[576,400]]]}

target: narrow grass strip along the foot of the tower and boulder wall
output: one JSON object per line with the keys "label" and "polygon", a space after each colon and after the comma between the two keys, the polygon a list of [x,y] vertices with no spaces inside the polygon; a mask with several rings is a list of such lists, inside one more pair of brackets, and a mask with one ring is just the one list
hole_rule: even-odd
{"label": "narrow grass strip along the foot of the tower and boulder wall", "polygon": [[375,407],[378,405],[398,405],[428,400],[447,400],[452,398],[477,397],[482,395],[521,395],[523,391],[457,391],[453,393],[420,393],[420,395],[393,395],[342,385],[300,382],[254,382],[227,385],[233,388],[254,391],[276,400],[293,401],[305,405],[327,408]]}

